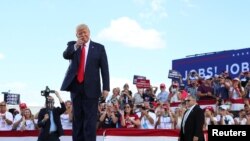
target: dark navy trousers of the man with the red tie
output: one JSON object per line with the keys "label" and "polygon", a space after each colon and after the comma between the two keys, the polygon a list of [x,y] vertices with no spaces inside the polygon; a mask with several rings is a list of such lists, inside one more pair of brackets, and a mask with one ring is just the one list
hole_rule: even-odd
{"label": "dark navy trousers of the man with the red tie", "polygon": [[98,98],[89,99],[84,91],[84,82],[76,79],[71,85],[73,104],[73,141],[96,141]]}

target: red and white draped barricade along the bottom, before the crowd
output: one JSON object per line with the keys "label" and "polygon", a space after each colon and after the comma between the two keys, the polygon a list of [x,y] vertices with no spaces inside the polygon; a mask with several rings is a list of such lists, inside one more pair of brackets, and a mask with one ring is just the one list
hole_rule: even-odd
{"label": "red and white draped barricade along the bottom, before the crowd", "polygon": [[[33,131],[0,131],[1,141],[37,141],[38,130]],[[65,130],[61,141],[71,141],[72,131]],[[176,141],[179,130],[172,129],[103,129],[97,130],[96,141]],[[207,138],[207,132],[204,132]]]}

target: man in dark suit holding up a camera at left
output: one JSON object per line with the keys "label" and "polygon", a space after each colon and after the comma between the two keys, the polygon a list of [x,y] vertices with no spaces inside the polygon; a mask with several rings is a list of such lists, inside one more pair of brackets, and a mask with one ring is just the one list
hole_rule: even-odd
{"label": "man in dark suit holding up a camera at left", "polygon": [[42,108],[38,114],[38,127],[41,128],[38,141],[60,141],[59,137],[63,135],[60,115],[65,112],[66,107],[57,91],[55,95],[61,107],[54,107],[54,98],[46,96],[46,107]]}

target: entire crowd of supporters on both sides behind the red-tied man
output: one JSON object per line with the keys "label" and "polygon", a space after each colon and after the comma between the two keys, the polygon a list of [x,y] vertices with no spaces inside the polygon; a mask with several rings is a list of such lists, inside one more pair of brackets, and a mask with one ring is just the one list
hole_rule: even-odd
{"label": "entire crowd of supporters on both sides behind the red-tied man", "polygon": [[[227,72],[214,77],[200,77],[191,72],[187,84],[173,81],[167,87],[164,83],[150,88],[138,88],[133,93],[128,84],[113,88],[109,96],[99,100],[97,129],[139,128],[139,129],[180,129],[186,110],[188,95],[199,101],[215,101],[214,106],[204,107],[205,124],[208,125],[249,125],[250,124],[250,72],[242,72],[231,78]],[[160,89],[158,91],[158,88]],[[171,108],[171,104],[179,103]],[[61,115],[63,129],[72,129],[71,101],[66,101],[66,111]],[[0,131],[36,130],[37,113],[33,114],[25,103],[19,110],[11,111],[6,102],[0,102]]]}

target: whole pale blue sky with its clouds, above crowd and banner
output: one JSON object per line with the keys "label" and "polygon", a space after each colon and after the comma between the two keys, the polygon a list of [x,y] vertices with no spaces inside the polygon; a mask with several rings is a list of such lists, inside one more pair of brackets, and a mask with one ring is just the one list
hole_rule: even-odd
{"label": "whole pale blue sky with its clouds, above crowd and banner", "polygon": [[249,7],[249,0],[1,1],[0,92],[43,105],[46,85],[60,90],[68,67],[62,53],[80,23],[106,47],[111,89],[129,83],[134,93],[135,74],[169,86],[173,59],[249,47]]}

